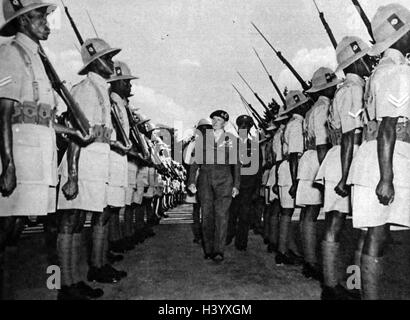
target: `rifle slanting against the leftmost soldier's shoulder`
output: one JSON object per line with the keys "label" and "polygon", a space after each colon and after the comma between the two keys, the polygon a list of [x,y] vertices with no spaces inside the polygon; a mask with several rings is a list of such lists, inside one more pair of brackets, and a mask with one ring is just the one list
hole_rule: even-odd
{"label": "rifle slanting against the leftmost soldier's shoulder", "polygon": [[54,69],[41,45],[39,47],[39,52],[41,61],[44,65],[44,69],[47,73],[47,77],[51,82],[51,86],[67,106],[67,110],[70,114],[71,124],[74,126],[74,128],[79,130],[83,136],[87,136],[90,133],[90,122],[88,121],[84,112],[81,110],[78,103],[74,100],[70,91],[68,91],[67,87],[64,85],[64,82],[60,80],[57,71]]}

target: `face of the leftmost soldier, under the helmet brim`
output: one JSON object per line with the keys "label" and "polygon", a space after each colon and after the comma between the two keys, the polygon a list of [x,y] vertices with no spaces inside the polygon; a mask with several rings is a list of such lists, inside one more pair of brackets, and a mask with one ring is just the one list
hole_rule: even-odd
{"label": "face of the leftmost soldier, under the helmet brim", "polygon": [[45,41],[50,35],[46,8],[32,10],[21,17],[24,29],[33,40]]}

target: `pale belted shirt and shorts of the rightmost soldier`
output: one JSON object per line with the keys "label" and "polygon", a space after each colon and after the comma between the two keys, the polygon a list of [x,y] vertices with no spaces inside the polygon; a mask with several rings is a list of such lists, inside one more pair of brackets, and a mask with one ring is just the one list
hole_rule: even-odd
{"label": "pale belted shirt and shorts of the rightmost soldier", "polygon": [[[353,224],[359,228],[386,223],[410,227],[410,66],[401,52],[385,51],[368,80],[363,114],[367,118],[366,142],[349,173],[349,182],[354,185]],[[377,130],[384,117],[398,118],[399,122],[393,155],[395,197],[389,206],[380,204],[375,193],[380,180]]]}

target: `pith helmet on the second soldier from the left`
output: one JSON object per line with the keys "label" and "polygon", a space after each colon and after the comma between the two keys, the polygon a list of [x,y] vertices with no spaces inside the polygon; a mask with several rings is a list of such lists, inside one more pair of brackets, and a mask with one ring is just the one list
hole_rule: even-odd
{"label": "pith helmet on the second soldier from the left", "polygon": [[101,58],[105,55],[115,56],[121,51],[121,49],[111,48],[110,45],[103,39],[93,38],[87,39],[81,46],[81,58],[83,59],[84,66],[78,72],[79,75],[86,74],[87,67],[91,62]]}

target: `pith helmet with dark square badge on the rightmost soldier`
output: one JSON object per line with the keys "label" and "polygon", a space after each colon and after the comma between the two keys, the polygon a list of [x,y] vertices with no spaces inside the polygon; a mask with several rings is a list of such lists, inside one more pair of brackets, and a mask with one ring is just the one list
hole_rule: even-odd
{"label": "pith helmet with dark square badge on the rightmost soldier", "polygon": [[369,54],[377,56],[410,31],[410,11],[397,3],[381,6],[372,20],[372,29],[376,44]]}

